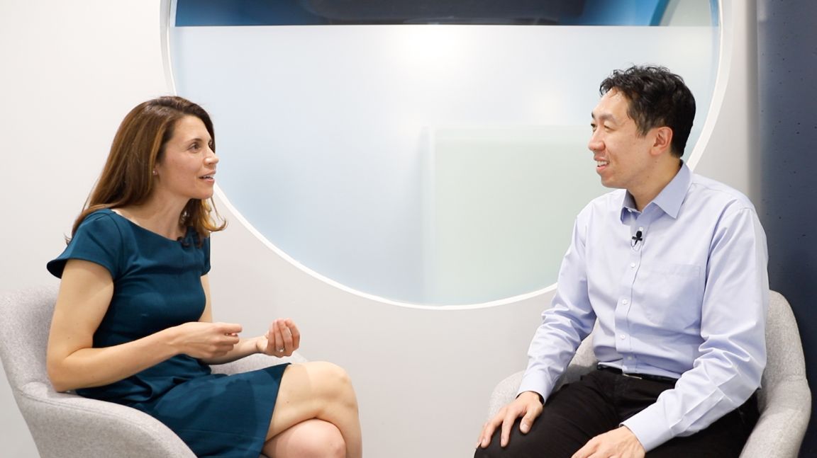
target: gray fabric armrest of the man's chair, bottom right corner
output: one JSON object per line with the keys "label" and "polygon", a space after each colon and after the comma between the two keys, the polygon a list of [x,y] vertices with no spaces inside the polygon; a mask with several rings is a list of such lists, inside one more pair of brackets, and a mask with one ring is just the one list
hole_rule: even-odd
{"label": "gray fabric armrest of the man's chair, bottom right corner", "polygon": [[811,392],[805,378],[779,381],[761,395],[766,408],[752,429],[741,458],[797,458],[811,416]]}

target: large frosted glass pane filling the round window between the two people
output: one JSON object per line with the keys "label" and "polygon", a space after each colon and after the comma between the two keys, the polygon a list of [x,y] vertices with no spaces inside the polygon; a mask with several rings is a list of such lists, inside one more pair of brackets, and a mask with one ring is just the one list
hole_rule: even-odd
{"label": "large frosted glass pane filling the round window between the two people", "polygon": [[[461,304],[556,281],[598,184],[598,86],[662,64],[699,110],[717,28],[172,29],[180,95],[216,123],[218,183],[272,244],[351,288]],[[471,196],[471,203],[467,203]],[[501,199],[506,200],[504,203]]]}

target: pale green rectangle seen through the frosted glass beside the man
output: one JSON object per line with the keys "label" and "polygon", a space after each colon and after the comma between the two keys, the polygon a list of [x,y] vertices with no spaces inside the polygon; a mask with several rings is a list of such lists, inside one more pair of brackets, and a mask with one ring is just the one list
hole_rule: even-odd
{"label": "pale green rectangle seen through the frosted glass beside the man", "polygon": [[427,291],[480,302],[556,279],[579,210],[604,192],[584,126],[435,130]]}

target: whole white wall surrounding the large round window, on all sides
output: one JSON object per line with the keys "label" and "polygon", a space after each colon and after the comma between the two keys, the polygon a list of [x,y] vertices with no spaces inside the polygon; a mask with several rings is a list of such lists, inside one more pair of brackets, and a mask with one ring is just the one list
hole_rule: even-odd
{"label": "whole white wall surrounding the large round window, on all sides", "polygon": [[[727,25],[753,35],[753,11],[725,2]],[[0,291],[51,283],[62,249],[114,130],[136,103],[167,92],[159,4],[144,0],[0,2]],[[727,30],[727,35],[733,31]],[[754,43],[739,35],[723,57],[729,85],[700,170],[752,196]],[[752,85],[752,86],[749,86]],[[748,101],[746,101],[748,100]],[[589,109],[589,108],[588,108]],[[717,150],[717,151],[716,151]],[[717,156],[716,156],[717,155]],[[713,156],[709,160],[709,156]],[[695,156],[693,161],[697,162]],[[757,197],[756,197],[757,200]],[[269,249],[239,218],[214,236],[218,319],[248,333],[292,316],[303,353],[346,367],[359,393],[366,456],[468,456],[493,385],[524,367],[529,336],[551,293],[476,307],[406,307],[328,284]],[[3,377],[3,376],[0,376]],[[0,382],[0,443],[36,456],[7,384]]]}

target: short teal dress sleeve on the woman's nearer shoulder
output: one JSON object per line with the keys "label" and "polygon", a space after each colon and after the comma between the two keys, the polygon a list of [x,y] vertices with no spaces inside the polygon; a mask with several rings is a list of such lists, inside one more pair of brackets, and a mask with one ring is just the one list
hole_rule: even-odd
{"label": "short teal dress sleeve on the woman's nearer shoulder", "polygon": [[105,214],[89,214],[77,228],[65,251],[47,263],[51,275],[62,278],[69,259],[82,259],[105,267],[112,278],[120,273],[122,235],[116,222]]}

